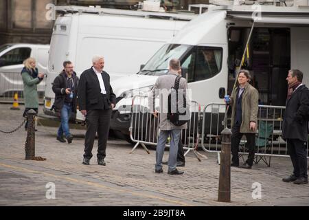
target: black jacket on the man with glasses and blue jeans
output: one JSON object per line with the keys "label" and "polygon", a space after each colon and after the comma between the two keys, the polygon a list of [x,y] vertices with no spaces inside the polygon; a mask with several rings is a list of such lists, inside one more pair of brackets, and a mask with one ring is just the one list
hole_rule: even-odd
{"label": "black jacket on the man with glasses and blue jeans", "polygon": [[[73,81],[74,81],[74,97],[72,102],[72,111],[76,113],[76,105],[77,105],[77,90],[78,90],[78,76],[76,76],[76,72],[73,72],[72,74]],[[67,74],[63,70],[54,80],[53,83],[53,91],[56,94],[55,96],[55,102],[53,105],[53,109],[55,111],[61,111],[63,104],[65,103],[65,98],[68,96],[65,93],[65,89],[69,88],[69,83],[67,82]]]}

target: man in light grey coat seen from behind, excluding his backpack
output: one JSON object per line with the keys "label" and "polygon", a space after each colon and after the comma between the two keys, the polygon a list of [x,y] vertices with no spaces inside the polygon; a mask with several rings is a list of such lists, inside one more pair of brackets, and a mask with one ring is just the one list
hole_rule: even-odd
{"label": "man in light grey coat seen from behind, excluding his backpack", "polygon": [[[170,72],[166,75],[159,76],[157,82],[155,83],[155,87],[153,87],[152,91],[148,96],[148,104],[150,107],[150,111],[157,117],[157,111],[155,110],[155,98],[159,96],[160,98],[160,133],[159,140],[157,143],[156,150],[156,165],[155,165],[155,173],[162,173],[162,158],[165,148],[166,140],[170,135],[170,154],[168,157],[168,174],[170,175],[181,175],[182,171],[176,169],[176,158],[178,151],[179,138],[181,135],[181,129],[187,129],[187,123],[181,126],[175,126],[168,120],[168,94],[170,94],[170,90],[174,87],[174,83],[176,77],[179,75],[178,72],[181,69],[181,65],[178,59],[172,59],[170,61]],[[182,94],[183,93],[183,94]],[[183,97],[181,95],[187,97],[187,80],[185,78],[181,78],[179,81],[179,97]],[[183,100],[182,100],[183,101]],[[181,102],[181,101],[180,101]],[[182,102],[183,103],[183,102]],[[186,107],[190,108],[189,98],[186,98]],[[181,104],[181,103],[179,103]],[[186,115],[183,117],[190,119],[190,113],[187,111]]]}

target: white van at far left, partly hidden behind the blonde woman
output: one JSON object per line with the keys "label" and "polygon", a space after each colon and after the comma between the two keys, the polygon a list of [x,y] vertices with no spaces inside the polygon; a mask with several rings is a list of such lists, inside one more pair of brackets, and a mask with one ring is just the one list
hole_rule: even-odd
{"label": "white van at far left, partly hidden behind the blonde woman", "polygon": [[[38,72],[46,74],[49,45],[8,43],[0,46],[0,96],[12,91],[23,91],[21,69],[23,61],[30,56],[36,59]],[[38,91],[45,91],[45,81]]]}

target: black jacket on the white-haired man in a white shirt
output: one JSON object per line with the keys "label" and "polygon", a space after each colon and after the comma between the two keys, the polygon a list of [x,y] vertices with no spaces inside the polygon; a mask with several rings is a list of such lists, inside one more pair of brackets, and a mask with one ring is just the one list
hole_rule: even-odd
{"label": "black jacket on the white-haired man in a white shirt", "polygon": [[92,67],[80,75],[78,85],[78,104],[80,110],[111,109],[111,103],[116,104],[116,96],[109,83],[109,75],[102,73],[106,95],[101,94],[100,83]]}

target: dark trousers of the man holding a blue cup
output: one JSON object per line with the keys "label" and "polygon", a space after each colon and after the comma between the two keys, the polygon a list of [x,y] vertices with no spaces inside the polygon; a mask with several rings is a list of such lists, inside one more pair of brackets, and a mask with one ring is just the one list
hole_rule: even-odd
{"label": "dark trousers of the man holding a blue cup", "polygon": [[240,124],[234,124],[232,128],[231,135],[231,153],[232,153],[232,162],[233,164],[239,164],[239,143],[242,139],[242,135],[246,135],[247,143],[246,146],[249,149],[248,159],[246,163],[250,166],[253,165],[254,153],[255,153],[255,133],[240,133]]}

